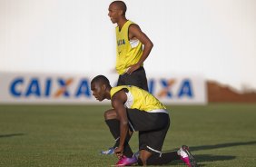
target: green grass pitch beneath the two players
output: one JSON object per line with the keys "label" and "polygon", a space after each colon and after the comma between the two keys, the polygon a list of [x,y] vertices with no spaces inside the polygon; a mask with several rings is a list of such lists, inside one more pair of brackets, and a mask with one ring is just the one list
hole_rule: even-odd
{"label": "green grass pitch beneath the two players", "polygon": [[[109,106],[0,105],[0,166],[111,166],[104,121]],[[172,127],[163,150],[190,146],[200,166],[256,166],[256,104],[168,106]],[[137,133],[131,146],[137,150]],[[181,161],[169,166],[184,166]]]}

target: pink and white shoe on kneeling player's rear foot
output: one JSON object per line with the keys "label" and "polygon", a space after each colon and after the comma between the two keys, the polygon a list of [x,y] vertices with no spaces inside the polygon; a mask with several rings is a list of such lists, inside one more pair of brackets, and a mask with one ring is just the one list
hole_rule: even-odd
{"label": "pink and white shoe on kneeling player's rear foot", "polygon": [[194,157],[192,156],[192,153],[189,151],[189,147],[186,145],[182,145],[180,150],[178,151],[181,160],[186,163],[189,167],[196,167],[196,162]]}

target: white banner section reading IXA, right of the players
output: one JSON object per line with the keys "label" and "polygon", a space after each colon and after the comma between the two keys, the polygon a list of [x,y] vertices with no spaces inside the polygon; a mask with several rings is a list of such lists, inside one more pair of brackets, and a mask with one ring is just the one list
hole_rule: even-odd
{"label": "white banner section reading IXA, right of the players", "polygon": [[149,92],[162,103],[206,104],[206,83],[197,75],[151,75],[148,80]]}

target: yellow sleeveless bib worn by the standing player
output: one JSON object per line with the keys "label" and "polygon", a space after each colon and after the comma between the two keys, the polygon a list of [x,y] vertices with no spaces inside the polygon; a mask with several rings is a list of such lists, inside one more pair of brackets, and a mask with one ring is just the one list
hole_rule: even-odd
{"label": "yellow sleeveless bib worn by the standing player", "polygon": [[127,21],[120,29],[115,27],[116,34],[116,64],[118,74],[124,74],[129,66],[139,62],[143,54],[143,44],[139,40],[129,40],[129,26],[132,21]]}

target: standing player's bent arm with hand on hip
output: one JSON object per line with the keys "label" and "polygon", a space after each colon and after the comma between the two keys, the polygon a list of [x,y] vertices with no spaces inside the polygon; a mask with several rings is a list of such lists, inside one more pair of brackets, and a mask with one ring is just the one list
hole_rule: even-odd
{"label": "standing player's bent arm with hand on hip", "polygon": [[130,68],[127,70],[127,74],[132,74],[135,70],[140,68],[140,66],[143,64],[143,62],[146,60],[146,58],[149,56],[152,48],[153,48],[153,43],[149,39],[149,37],[144,34],[139,27],[139,25],[130,25],[129,27],[129,39],[138,39],[142,44],[143,44],[143,55],[139,62],[137,64],[133,64],[130,66]]}

